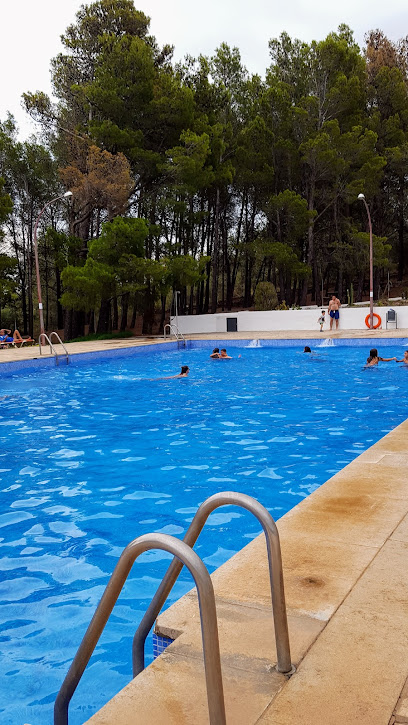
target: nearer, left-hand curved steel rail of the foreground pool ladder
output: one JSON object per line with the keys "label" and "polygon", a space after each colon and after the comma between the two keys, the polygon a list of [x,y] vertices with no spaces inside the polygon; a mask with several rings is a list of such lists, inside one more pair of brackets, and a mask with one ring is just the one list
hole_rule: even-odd
{"label": "nearer, left-hand curved steel rail of the foreground pool ladder", "polygon": [[[183,541],[168,534],[144,534],[123,550],[91,623],[85,632],[54,705],[54,725],[68,725],[68,706],[94,651],[109,615],[137,559],[149,549],[169,551],[190,570],[200,605],[208,712],[211,725],[225,725],[217,613],[211,577],[200,557]],[[136,717],[137,719],[137,717]]]}

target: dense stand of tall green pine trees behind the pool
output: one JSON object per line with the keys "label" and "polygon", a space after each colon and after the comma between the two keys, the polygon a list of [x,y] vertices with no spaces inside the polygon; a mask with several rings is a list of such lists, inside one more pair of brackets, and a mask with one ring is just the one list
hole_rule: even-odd
{"label": "dense stand of tall green pine trees behind the pool", "polygon": [[319,300],[322,280],[352,304],[367,289],[361,192],[376,285],[397,265],[402,280],[406,43],[373,31],[361,52],[346,25],[307,43],[282,33],[260,78],[226,43],[173,65],[149,23],[131,0],[84,5],[52,62],[56,101],[25,95],[44,143],[19,144],[11,119],[0,126],[0,224],[23,294],[33,220],[61,192],[57,169],[74,197],[69,213],[42,219],[40,266],[54,300],[62,271],[67,308],[126,317],[133,305],[151,326],[171,288],[182,312],[204,312],[221,294],[227,309],[250,306],[254,287],[259,298],[271,283],[286,308]]}

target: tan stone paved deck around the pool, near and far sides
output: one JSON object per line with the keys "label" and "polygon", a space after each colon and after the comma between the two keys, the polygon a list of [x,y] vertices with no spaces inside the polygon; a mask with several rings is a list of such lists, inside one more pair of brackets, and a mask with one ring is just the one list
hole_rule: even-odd
{"label": "tan stone paved deck around the pool, near and far sides", "polygon": [[[408,330],[188,336],[217,337],[358,337],[368,338],[369,346],[370,337],[408,338]],[[152,343],[163,340],[130,338],[67,347],[70,354],[80,354]],[[0,361],[9,363],[38,358],[39,351],[0,350],[0,355]],[[263,537],[214,572],[228,725],[408,723],[407,465],[408,420],[279,520],[297,667],[289,680],[273,669]],[[208,723],[194,592],[159,617],[156,632],[175,642],[91,717],[89,725]]]}

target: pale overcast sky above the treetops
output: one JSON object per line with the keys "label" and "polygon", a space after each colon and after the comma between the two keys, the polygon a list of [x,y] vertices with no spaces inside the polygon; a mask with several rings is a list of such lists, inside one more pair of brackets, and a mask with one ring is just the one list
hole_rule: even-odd
{"label": "pale overcast sky above the treetops", "polygon": [[[35,125],[21,108],[24,91],[50,92],[50,59],[62,46],[60,35],[74,22],[81,0],[9,0],[0,24],[0,119],[15,116],[21,138]],[[364,34],[381,28],[391,40],[408,35],[407,0],[137,0],[151,18],[159,44],[175,46],[175,59],[187,53],[210,55],[222,42],[238,46],[244,65],[263,75],[268,40],[286,30],[301,40],[321,40],[340,23]]]}

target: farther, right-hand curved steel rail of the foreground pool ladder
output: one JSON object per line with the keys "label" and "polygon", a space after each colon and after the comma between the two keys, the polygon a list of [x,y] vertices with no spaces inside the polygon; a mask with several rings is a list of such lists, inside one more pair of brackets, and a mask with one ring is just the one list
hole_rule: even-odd
{"label": "farther, right-hand curved steel rail of the foreground pool ladder", "polygon": [[[250,511],[254,514],[254,516],[256,516],[264,530],[268,552],[276,653],[278,659],[276,669],[278,672],[292,674],[295,670],[290,657],[279,533],[276,528],[275,521],[269,511],[267,511],[266,508],[259,503],[259,501],[252,498],[252,496],[247,496],[245,493],[235,493],[234,491],[216,493],[207,498],[204,503],[201,504],[189,528],[187,529],[183,541],[191,547],[194,546],[210,513],[219,506],[230,505],[241,506],[242,508],[247,509],[247,511]],[[132,650],[133,677],[136,677],[136,675],[144,669],[144,647],[146,637],[149,634],[168,595],[170,594],[181,569],[182,564],[180,564],[180,562],[176,559],[173,559],[157,589],[156,594],[146,610],[138,629],[136,630],[133,638]]]}

